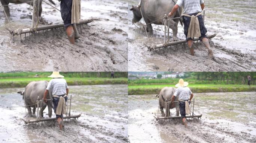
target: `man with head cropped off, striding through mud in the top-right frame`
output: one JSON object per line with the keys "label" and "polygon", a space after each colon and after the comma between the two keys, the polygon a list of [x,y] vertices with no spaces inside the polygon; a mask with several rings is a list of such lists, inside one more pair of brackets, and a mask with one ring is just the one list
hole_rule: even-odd
{"label": "man with head cropped off, striding through mud in the top-right frame", "polygon": [[204,9],[204,0],[177,0],[176,5],[173,7],[168,16],[173,15],[174,12],[183,6],[183,23],[184,34],[186,35],[186,41],[188,41],[188,47],[191,55],[194,55],[194,37],[199,37],[205,47],[208,49],[208,56],[214,59],[213,50],[210,47],[209,41],[205,35],[207,29],[204,26],[204,20],[201,12]]}

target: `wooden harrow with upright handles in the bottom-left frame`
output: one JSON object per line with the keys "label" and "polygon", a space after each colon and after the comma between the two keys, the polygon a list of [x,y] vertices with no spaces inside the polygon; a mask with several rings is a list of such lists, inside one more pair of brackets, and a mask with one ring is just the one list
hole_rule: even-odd
{"label": "wooden harrow with upright handles in the bottom-left frame", "polygon": [[[51,101],[52,99],[47,99],[48,102]],[[67,113],[65,115],[63,115],[63,119],[78,119],[81,116],[81,113],[78,115],[71,115],[70,111],[71,111],[71,101],[72,101],[72,95],[70,95],[70,98],[67,99]],[[37,101],[36,101],[36,105],[37,105],[37,116],[36,119],[26,119],[23,120],[25,122],[25,124],[30,124],[30,123],[39,123],[39,122],[43,122],[43,121],[54,121],[57,120],[56,118],[42,118],[40,111],[42,109],[42,102],[44,102],[42,99],[39,99],[39,96],[37,96]],[[41,106],[39,106],[41,105]]]}

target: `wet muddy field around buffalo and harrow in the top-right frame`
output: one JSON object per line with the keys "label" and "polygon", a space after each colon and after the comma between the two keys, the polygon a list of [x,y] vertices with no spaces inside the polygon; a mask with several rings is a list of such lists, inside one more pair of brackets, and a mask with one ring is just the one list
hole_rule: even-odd
{"label": "wet muddy field around buffalo and harrow in the top-right frame", "polygon": [[[140,0],[130,0],[129,7]],[[188,45],[148,51],[147,45],[162,44],[164,32],[160,25],[152,25],[154,35],[147,42],[142,28],[143,19],[129,25],[129,71],[256,71],[256,1],[205,0],[205,26],[207,35],[217,33],[210,42],[215,60],[208,58],[207,49],[196,42],[195,56]],[[129,23],[133,18],[128,12]],[[170,29],[170,35],[172,31]],[[178,25],[179,39],[184,40],[183,27]],[[171,39],[172,40],[172,39]]]}

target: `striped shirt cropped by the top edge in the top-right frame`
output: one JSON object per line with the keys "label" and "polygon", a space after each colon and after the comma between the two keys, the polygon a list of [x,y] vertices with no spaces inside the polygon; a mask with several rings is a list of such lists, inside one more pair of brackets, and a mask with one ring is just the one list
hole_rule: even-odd
{"label": "striped shirt cropped by the top edge in the top-right frame", "polygon": [[203,4],[204,0],[178,0],[177,5],[183,6],[183,13],[192,14],[202,12],[200,4]]}

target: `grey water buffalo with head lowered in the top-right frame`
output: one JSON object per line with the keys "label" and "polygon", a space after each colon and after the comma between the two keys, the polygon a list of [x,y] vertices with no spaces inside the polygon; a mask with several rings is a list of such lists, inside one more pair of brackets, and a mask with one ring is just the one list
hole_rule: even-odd
{"label": "grey water buffalo with head lowered in the top-right frame", "polygon": [[[165,14],[168,15],[176,3],[177,0],[141,0],[138,6],[132,6],[130,8],[130,10],[133,12],[132,23],[140,21],[143,16],[146,24],[153,22],[153,24],[162,25],[163,19],[161,18],[163,18]],[[183,8],[180,7],[180,9],[178,9],[171,18],[180,17],[182,14],[182,9]],[[179,20],[171,20],[168,25],[173,30],[174,40],[178,39],[178,23]],[[182,22],[180,23],[182,24]],[[147,25],[147,29],[150,35],[153,35],[153,28],[151,24]]]}

